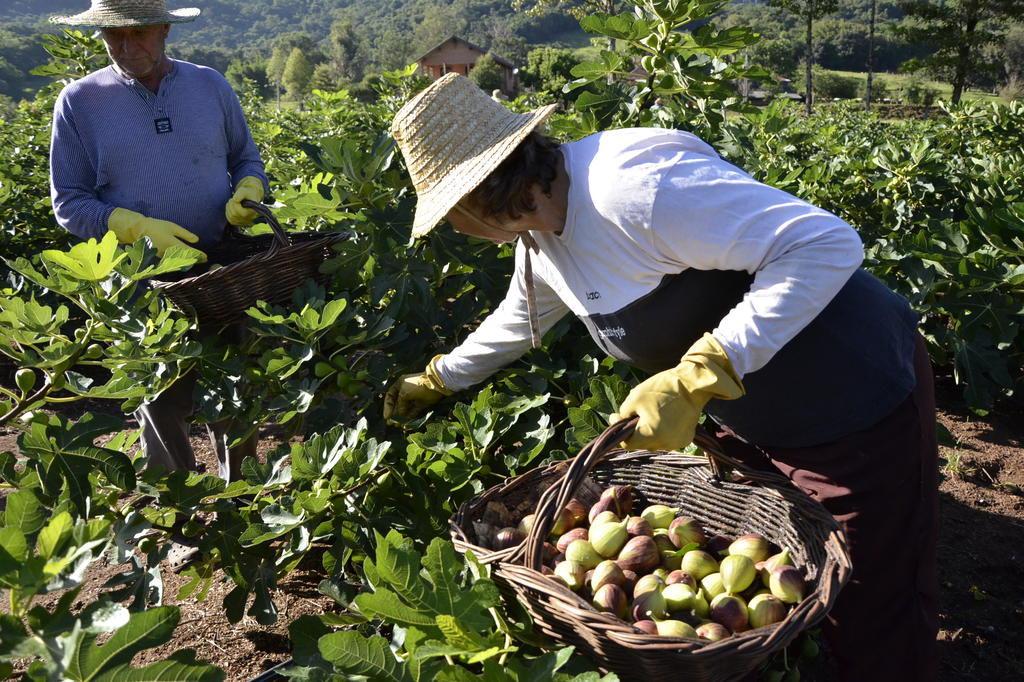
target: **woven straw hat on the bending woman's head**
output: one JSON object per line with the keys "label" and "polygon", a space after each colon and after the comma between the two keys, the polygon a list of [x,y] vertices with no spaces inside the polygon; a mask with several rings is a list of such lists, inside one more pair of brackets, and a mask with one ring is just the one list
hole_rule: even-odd
{"label": "woven straw hat on the bending woman's head", "polygon": [[413,237],[423,237],[558,108],[516,114],[465,76],[446,74],[406,102],[391,134],[416,187]]}

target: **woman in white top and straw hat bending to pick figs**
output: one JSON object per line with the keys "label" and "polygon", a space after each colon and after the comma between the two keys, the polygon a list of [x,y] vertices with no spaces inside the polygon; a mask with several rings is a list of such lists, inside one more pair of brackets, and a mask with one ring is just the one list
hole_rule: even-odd
{"label": "woman in white top and straw hat bending to pick figs", "polygon": [[414,236],[446,218],[519,244],[504,302],[395,381],[386,417],[483,381],[571,312],[650,374],[611,417],[639,417],[629,447],[683,447],[705,412],[728,452],[782,471],[845,525],[854,572],[826,626],[843,678],[934,677],[935,406],[907,302],[859,269],[847,223],[694,135],[558,144],[538,132],[552,111],[514,114],[447,75],[395,116]]}

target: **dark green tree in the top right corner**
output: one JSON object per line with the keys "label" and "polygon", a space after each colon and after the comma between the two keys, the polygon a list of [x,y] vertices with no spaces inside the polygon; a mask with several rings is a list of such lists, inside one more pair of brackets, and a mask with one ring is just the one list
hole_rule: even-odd
{"label": "dark green tree in the top right corner", "polygon": [[934,49],[930,56],[911,60],[907,69],[949,80],[954,104],[969,85],[994,80],[1000,65],[986,48],[1001,39],[1000,27],[1024,12],[1024,0],[904,0],[900,6],[916,20],[894,30],[908,42]]}

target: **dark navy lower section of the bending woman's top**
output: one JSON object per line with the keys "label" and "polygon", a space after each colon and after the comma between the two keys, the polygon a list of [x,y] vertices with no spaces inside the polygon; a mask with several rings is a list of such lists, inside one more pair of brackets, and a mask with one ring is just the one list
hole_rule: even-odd
{"label": "dark navy lower section of the bending woman's top", "polygon": [[[688,269],[610,314],[584,317],[609,355],[650,373],[686,350],[750,291],[754,275]],[[769,363],[743,377],[746,394],[706,412],[752,443],[798,447],[865,429],[914,387],[918,317],[906,300],[858,269]]]}

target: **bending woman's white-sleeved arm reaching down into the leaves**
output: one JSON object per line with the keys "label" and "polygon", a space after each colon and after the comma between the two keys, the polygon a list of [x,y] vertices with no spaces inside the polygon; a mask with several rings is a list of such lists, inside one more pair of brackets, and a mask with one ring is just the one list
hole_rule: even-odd
{"label": "bending woman's white-sleeved arm reaching down into the leaves", "polygon": [[[466,340],[436,365],[444,386],[453,391],[477,384],[530,347],[529,312],[526,306],[525,247],[516,246],[515,272],[505,300],[480,323]],[[537,311],[541,334],[565,316],[568,308],[535,272]]]}

